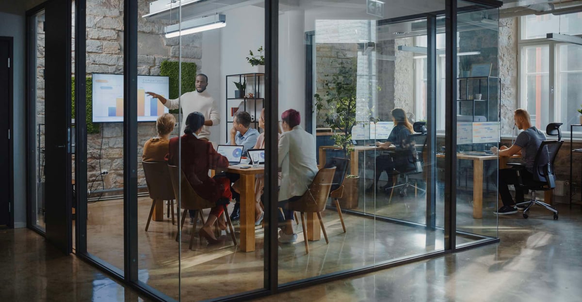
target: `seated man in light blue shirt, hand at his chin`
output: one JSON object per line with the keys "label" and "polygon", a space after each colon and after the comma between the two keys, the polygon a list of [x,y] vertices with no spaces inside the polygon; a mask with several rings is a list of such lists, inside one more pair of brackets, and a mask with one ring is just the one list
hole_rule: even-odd
{"label": "seated man in light blue shirt, hand at his chin", "polygon": [[[227,145],[242,145],[243,157],[247,156],[247,150],[252,149],[257,144],[258,130],[251,128],[251,115],[246,111],[237,111],[235,113],[232,129],[230,129],[230,139],[226,142]],[[234,183],[239,180],[240,175],[234,173],[226,173],[226,177],[230,182]],[[235,209],[230,214],[230,220],[237,221],[240,219],[240,193],[231,187],[232,197],[236,200]]]}

